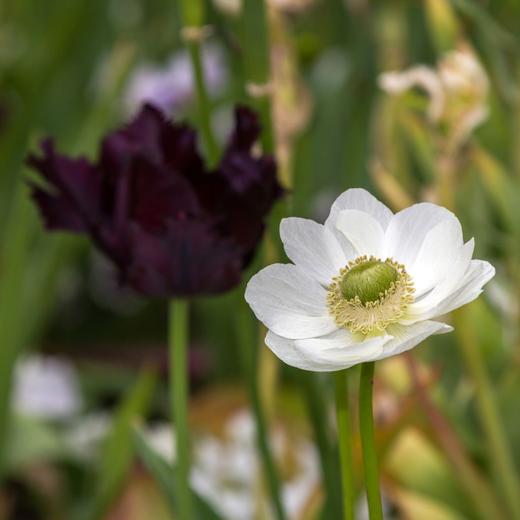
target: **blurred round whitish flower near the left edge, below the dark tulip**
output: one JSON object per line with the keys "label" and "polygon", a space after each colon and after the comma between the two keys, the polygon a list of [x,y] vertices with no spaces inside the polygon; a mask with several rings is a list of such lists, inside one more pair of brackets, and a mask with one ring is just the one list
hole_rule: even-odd
{"label": "blurred round whitish flower near the left edge, below the dark tulip", "polygon": [[68,419],[82,399],[76,370],[66,359],[32,354],[15,368],[12,407],[42,419]]}

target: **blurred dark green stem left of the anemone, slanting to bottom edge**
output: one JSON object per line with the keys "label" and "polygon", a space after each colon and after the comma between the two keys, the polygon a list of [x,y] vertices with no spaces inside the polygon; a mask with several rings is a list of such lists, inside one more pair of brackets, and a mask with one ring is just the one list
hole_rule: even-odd
{"label": "blurred dark green stem left of the anemone, slanting to bottom edge", "polygon": [[267,436],[267,426],[262,407],[262,401],[258,392],[257,372],[258,363],[256,356],[256,336],[253,327],[253,320],[250,311],[246,307],[243,299],[244,288],[241,287],[237,292],[237,314],[236,314],[236,331],[238,337],[238,350],[242,362],[246,384],[248,385],[249,398],[253,407],[253,414],[256,422],[256,439],[258,449],[262,458],[267,484],[271,500],[274,505],[278,520],[285,520],[285,512],[280,498],[280,483],[276,473],[275,463],[272,459],[271,449]]}

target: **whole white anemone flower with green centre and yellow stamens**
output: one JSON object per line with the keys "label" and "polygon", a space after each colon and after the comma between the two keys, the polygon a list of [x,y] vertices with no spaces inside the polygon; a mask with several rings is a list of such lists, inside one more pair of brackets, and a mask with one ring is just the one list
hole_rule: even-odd
{"label": "whole white anemone flower with green centre and yellow stamens", "polygon": [[245,299],[265,342],[294,367],[334,371],[400,354],[452,327],[432,321],[474,300],[495,268],[472,260],[458,218],[415,204],[395,215],[362,189],[345,191],[324,225],[284,218],[293,264],[249,282]]}

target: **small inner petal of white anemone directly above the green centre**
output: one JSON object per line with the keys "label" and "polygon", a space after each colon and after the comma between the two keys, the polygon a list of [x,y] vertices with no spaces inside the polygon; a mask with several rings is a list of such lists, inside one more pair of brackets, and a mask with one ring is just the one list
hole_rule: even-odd
{"label": "small inner petal of white anemone directly above the green centre", "polygon": [[352,244],[356,256],[374,255],[379,258],[384,254],[385,232],[370,213],[359,210],[340,211],[336,227]]}

